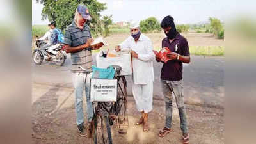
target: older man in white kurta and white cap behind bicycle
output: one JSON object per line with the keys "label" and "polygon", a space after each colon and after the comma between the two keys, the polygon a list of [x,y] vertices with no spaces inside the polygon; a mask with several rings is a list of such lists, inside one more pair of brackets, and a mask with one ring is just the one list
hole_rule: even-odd
{"label": "older man in white kurta and white cap behind bicycle", "polygon": [[130,27],[131,36],[122,44],[116,46],[117,51],[130,49],[132,55],[132,93],[136,102],[138,111],[142,116],[136,125],[143,124],[143,130],[148,132],[148,113],[153,108],[153,82],[154,68],[153,60],[155,59],[152,51],[152,42],[148,36],[140,32],[139,25],[134,23]]}

